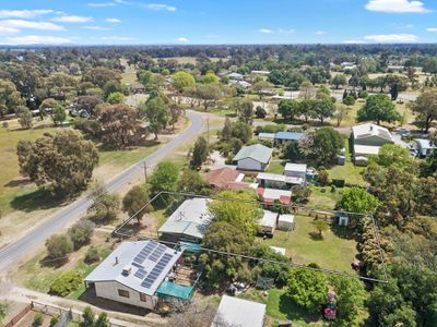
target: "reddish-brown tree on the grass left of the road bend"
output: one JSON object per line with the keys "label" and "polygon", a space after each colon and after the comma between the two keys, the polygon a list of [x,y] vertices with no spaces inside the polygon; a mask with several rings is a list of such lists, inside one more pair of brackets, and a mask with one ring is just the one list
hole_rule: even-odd
{"label": "reddish-brown tree on the grass left of the road bend", "polygon": [[126,105],[107,105],[99,110],[98,137],[110,148],[123,148],[139,144],[145,135],[138,111]]}

